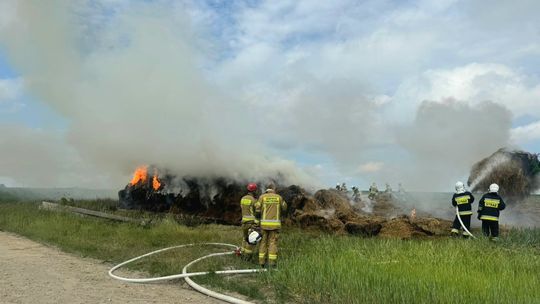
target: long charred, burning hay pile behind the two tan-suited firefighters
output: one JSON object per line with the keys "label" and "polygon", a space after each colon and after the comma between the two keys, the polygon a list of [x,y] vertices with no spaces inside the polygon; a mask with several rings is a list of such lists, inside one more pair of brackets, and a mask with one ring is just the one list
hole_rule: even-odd
{"label": "long charred, burning hay pile behind the two tan-suited firefighters", "polygon": [[[121,207],[196,216],[223,224],[240,223],[239,201],[245,194],[245,183],[224,178],[177,178],[168,173],[158,173],[155,168],[138,168],[131,182],[118,193]],[[437,235],[439,232],[433,230],[437,225],[441,226],[435,223],[433,228],[422,221],[403,226],[402,222],[388,221],[385,217],[397,213],[399,209],[391,197],[381,196],[374,202],[377,214],[368,214],[355,211],[350,197],[343,191],[319,190],[311,195],[301,187],[292,185],[278,186],[277,192],[289,206],[284,218],[288,226],[361,236],[396,233],[401,236],[404,233],[405,237]],[[403,231],[396,232],[394,228],[400,225]],[[448,230],[446,225],[442,226],[444,228],[441,229]]]}

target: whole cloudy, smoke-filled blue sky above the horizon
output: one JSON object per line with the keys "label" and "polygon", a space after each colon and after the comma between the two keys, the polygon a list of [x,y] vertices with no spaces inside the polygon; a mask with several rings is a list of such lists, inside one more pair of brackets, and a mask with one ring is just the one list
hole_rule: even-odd
{"label": "whole cloudy, smoke-filled blue sky above the horizon", "polygon": [[538,1],[0,3],[0,183],[451,190],[540,153]]}

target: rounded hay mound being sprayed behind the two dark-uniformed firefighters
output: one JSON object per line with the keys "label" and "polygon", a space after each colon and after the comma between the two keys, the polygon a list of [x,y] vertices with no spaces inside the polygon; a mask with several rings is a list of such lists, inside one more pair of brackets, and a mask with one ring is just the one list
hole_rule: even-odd
{"label": "rounded hay mound being sprayed behind the two dark-uniformed firefighters", "polygon": [[472,167],[467,183],[475,192],[496,183],[503,196],[522,199],[540,187],[539,173],[538,154],[500,149]]}

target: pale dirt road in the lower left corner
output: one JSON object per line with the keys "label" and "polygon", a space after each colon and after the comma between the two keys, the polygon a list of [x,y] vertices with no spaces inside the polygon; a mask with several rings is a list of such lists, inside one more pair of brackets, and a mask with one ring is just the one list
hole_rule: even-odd
{"label": "pale dirt road in the lower left corner", "polygon": [[128,284],[109,265],[0,232],[1,303],[222,303],[185,283]]}

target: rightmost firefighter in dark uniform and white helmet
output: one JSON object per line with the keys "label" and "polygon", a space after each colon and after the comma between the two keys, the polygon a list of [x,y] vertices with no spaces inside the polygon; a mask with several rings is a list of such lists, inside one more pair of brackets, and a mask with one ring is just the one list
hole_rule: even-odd
{"label": "rightmost firefighter in dark uniform and white helmet", "polygon": [[491,184],[489,192],[482,196],[478,204],[478,219],[482,221],[482,232],[493,241],[499,238],[499,212],[506,208],[498,192],[499,186]]}

